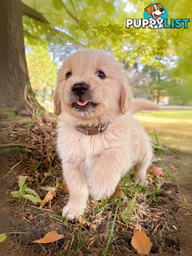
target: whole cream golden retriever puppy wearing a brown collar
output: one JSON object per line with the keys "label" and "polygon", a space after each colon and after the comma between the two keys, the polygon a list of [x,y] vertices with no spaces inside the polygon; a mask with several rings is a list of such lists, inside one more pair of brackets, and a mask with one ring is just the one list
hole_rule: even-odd
{"label": "whole cream golden retriever puppy wearing a brown collar", "polygon": [[57,146],[69,189],[62,215],[78,218],[89,195],[95,200],[111,196],[135,164],[141,163],[135,183],[146,183],[152,149],[133,114],[159,107],[145,100],[132,102],[121,63],[99,50],[75,53],[59,71],[53,99],[54,113],[60,115]]}

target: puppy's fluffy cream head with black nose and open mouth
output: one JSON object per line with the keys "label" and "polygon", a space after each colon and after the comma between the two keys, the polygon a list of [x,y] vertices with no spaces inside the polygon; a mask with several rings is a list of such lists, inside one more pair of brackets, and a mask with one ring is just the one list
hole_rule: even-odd
{"label": "puppy's fluffy cream head with black nose and open mouth", "polygon": [[107,122],[129,109],[131,92],[121,63],[89,50],[75,53],[58,74],[54,113],[67,113],[82,121]]}

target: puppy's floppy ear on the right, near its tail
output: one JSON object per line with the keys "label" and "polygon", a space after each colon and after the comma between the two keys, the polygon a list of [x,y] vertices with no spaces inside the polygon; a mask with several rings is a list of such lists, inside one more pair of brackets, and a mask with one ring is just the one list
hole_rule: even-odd
{"label": "puppy's floppy ear on the right, near its tail", "polygon": [[120,100],[120,109],[122,114],[125,114],[131,105],[131,90],[130,87],[128,87],[126,85],[126,83],[124,82],[121,86],[121,100]]}

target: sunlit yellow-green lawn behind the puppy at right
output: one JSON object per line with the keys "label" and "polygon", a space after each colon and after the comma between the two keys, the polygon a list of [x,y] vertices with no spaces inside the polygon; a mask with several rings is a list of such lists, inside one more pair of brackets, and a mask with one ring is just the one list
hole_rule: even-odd
{"label": "sunlit yellow-green lawn behind the puppy at right", "polygon": [[137,119],[153,137],[154,130],[162,144],[180,150],[192,150],[192,110],[162,110],[138,113]]}

